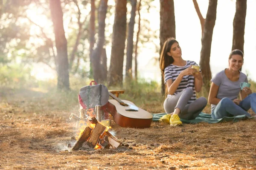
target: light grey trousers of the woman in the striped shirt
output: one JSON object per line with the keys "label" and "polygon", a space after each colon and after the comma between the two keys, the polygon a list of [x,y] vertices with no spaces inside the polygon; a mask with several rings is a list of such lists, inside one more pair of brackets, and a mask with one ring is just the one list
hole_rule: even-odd
{"label": "light grey trousers of the woman in the striped shirt", "polygon": [[167,97],[163,102],[163,108],[166,113],[172,113],[174,112],[175,108],[179,108],[181,111],[179,114],[180,119],[195,119],[196,116],[198,116],[207,105],[207,99],[204,97],[199,97],[192,103],[187,104],[192,96],[192,88],[186,88],[176,95]]}

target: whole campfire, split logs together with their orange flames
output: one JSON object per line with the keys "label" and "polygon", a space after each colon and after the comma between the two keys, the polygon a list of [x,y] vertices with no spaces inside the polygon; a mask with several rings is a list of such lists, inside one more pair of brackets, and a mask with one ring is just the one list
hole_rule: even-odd
{"label": "whole campfire, split logs together with their orange flames", "polygon": [[101,121],[99,119],[101,122],[98,122],[93,110],[87,110],[86,113],[87,119],[80,120],[80,122],[84,122],[84,120],[85,122],[82,123],[82,126],[80,125],[80,133],[76,138],[77,142],[73,146],[72,151],[79,150],[85,142],[89,147],[94,149],[119,147],[120,142],[108,132],[111,127],[104,126],[104,120]]}

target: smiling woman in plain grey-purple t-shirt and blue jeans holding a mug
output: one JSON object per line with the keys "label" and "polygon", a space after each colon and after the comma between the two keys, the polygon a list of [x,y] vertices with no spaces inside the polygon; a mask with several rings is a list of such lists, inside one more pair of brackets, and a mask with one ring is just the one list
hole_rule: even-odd
{"label": "smiling woman in plain grey-purple t-shirt and blue jeans holding a mug", "polygon": [[233,50],[229,56],[229,68],[211,79],[208,102],[212,104],[213,119],[221,119],[224,116],[251,116],[247,112],[250,108],[256,113],[256,93],[252,93],[248,87],[240,87],[241,82],[248,82],[247,76],[240,71],[243,63],[243,52]]}

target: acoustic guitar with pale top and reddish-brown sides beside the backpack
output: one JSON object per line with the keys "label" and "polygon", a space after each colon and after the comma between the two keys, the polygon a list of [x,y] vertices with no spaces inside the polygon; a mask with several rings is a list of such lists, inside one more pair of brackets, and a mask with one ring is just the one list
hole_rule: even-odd
{"label": "acoustic guitar with pale top and reddish-brown sides beside the backpack", "polygon": [[146,128],[150,127],[153,116],[151,113],[138,108],[128,100],[120,100],[108,92],[113,99],[107,103],[107,111],[113,116],[114,122],[121,127]]}

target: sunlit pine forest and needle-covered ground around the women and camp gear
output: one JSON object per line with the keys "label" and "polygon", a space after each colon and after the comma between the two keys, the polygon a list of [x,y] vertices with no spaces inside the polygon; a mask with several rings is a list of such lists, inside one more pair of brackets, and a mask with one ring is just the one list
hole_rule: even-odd
{"label": "sunlit pine forest and needle-covered ground around the women and camp gear", "polygon": [[233,49],[244,51],[255,92],[255,8],[256,0],[0,0],[0,169],[256,169],[252,119],[113,124],[120,148],[67,148],[77,136],[70,113],[79,114],[77,95],[92,79],[164,112],[159,57],[168,37],[201,65],[198,96],[208,96]]}

